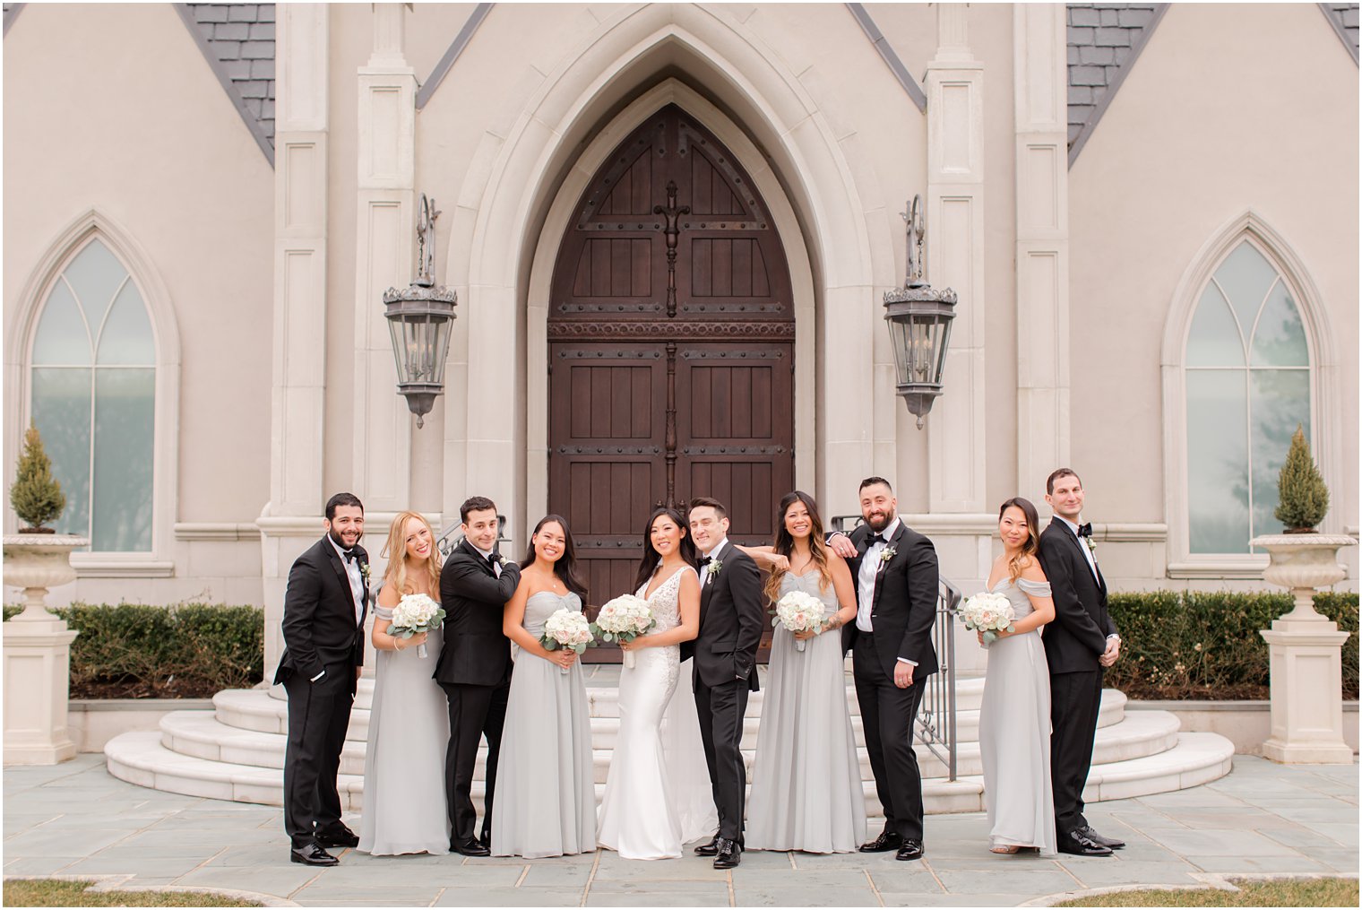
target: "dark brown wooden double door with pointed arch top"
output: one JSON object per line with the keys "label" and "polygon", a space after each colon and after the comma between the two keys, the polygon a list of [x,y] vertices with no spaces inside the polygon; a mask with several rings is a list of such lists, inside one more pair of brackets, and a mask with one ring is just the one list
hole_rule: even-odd
{"label": "dark brown wooden double door with pointed arch top", "polygon": [[591,605],[632,590],[659,504],[712,496],[730,539],[770,542],[794,485],[794,308],[729,150],[674,105],[650,117],[577,203],[552,294],[549,508]]}

